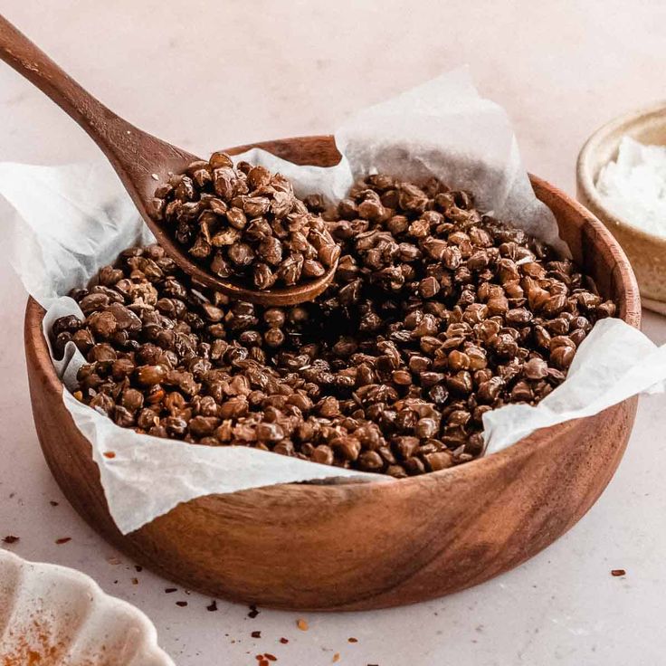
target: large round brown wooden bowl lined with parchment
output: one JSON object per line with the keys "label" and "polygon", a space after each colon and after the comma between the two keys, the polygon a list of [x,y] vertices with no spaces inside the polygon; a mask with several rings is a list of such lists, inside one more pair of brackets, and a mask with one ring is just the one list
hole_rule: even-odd
{"label": "large round brown wooden bowl lined with parchment", "polygon": [[[300,164],[331,166],[330,137],[259,144]],[[232,152],[240,152],[239,147]],[[620,246],[595,217],[537,177],[576,261],[619,314],[641,307]],[[233,601],[302,610],[410,604],[476,585],[532,557],[572,527],[613,476],[636,398],[533,433],[461,467],[394,483],[284,484],[194,499],[128,536],[109,517],[90,444],[62,403],[29,300],[25,351],[34,421],[72,506],[116,547],[181,585]]]}

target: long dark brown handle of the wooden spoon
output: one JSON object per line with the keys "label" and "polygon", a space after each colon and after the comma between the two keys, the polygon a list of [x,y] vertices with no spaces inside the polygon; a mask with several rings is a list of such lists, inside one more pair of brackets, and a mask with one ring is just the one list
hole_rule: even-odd
{"label": "long dark brown handle of the wooden spoon", "polygon": [[0,59],[42,90],[88,132],[109,158],[139,209],[145,207],[157,185],[152,176],[156,165],[161,180],[171,166],[182,167],[190,157],[107,109],[2,15]]}

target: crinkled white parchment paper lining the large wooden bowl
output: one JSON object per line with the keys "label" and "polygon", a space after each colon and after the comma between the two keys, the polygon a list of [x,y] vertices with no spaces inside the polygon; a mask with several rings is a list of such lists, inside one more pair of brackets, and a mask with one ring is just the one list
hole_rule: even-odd
{"label": "crinkled white parchment paper lining the large wooden bowl", "polygon": [[[452,71],[360,111],[338,130],[336,142],[344,157],[330,168],[296,166],[256,149],[243,157],[288,176],[300,195],[320,192],[332,201],[346,195],[355,176],[373,171],[415,180],[438,176],[471,190],[482,210],[563,247],[553,215],[532,192],[505,112],[480,98],[467,71]],[[106,162],[0,164],[0,194],[16,211],[5,261],[13,262],[26,290],[47,309],[45,330],[64,314],[81,317],[66,296],[69,290],[85,285],[124,248],[152,240]],[[331,475],[392,482],[247,447],[214,448],[134,433],[72,397],[83,363],[76,347],[70,344],[65,358],[53,363],[70,389],[63,391],[64,403],[91,442],[109,510],[124,533],[211,493]],[[537,407],[509,405],[484,415],[488,452],[630,395],[663,390],[664,378],[666,352],[622,321],[606,319],[581,345],[566,382]]]}

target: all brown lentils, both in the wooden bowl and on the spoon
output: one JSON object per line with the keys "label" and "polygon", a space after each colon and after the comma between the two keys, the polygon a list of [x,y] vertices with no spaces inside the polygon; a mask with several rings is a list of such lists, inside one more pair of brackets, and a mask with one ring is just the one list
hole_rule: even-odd
{"label": "all brown lentils, both in the wooden bowl and on the spoon", "polygon": [[[327,209],[222,154],[191,171],[156,205],[211,270],[244,266],[261,288],[268,271],[287,284],[339,256],[338,268],[317,300],[264,308],[195,283],[152,245],[74,291],[85,319],[58,319],[52,336],[88,361],[76,396],[139,433],[394,477],[442,470],[480,455],[483,414],[560,385],[614,316],[572,262],[438,181],[367,176]],[[252,262],[233,259],[239,245]]]}

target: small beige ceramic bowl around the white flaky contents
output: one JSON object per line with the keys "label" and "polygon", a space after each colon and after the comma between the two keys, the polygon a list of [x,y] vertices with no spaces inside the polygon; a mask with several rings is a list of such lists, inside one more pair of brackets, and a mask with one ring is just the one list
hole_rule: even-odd
{"label": "small beige ceramic bowl around the white flaky contents", "polygon": [[666,314],[666,238],[646,233],[630,220],[611,213],[595,187],[602,167],[617,157],[624,136],[643,144],[666,146],[666,103],[611,120],[587,139],[578,156],[576,195],[623,246],[632,262],[643,305]]}

